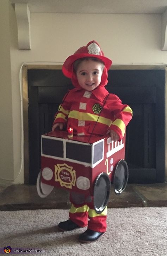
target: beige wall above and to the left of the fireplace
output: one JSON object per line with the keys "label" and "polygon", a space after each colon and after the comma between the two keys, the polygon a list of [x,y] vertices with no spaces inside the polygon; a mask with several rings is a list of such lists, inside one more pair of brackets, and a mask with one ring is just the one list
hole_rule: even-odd
{"label": "beige wall above and to the left of the fireplace", "polygon": [[[3,35],[0,80],[0,183],[17,177],[21,166],[19,71],[24,62],[63,62],[95,39],[113,64],[163,64],[160,14],[31,13],[31,50],[18,50],[17,20],[6,0],[0,1]],[[2,38],[2,37],[1,37]],[[7,138],[7,139],[6,139]],[[24,170],[11,183],[24,183]]]}

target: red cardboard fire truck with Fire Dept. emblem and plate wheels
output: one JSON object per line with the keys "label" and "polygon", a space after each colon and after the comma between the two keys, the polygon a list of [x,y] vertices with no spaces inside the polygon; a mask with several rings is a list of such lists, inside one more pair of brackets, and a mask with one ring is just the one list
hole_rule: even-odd
{"label": "red cardboard fire truck with Fire Dept. emblem and plate wheels", "polygon": [[111,185],[117,195],[128,182],[125,136],[118,142],[106,136],[77,136],[55,130],[41,138],[41,171],[37,178],[40,197],[54,187],[92,196],[94,209],[103,212]]}

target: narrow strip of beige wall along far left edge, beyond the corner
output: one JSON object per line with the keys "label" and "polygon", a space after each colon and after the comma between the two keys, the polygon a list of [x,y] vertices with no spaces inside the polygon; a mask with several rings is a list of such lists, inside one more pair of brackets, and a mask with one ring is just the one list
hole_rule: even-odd
{"label": "narrow strip of beige wall along far left edge, beyond the corner", "polygon": [[10,24],[8,4],[5,0],[0,2],[0,24],[0,178],[13,179]]}

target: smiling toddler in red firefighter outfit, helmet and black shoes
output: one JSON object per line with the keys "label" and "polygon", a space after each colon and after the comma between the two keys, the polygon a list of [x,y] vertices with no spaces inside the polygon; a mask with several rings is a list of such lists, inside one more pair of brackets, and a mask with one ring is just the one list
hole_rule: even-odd
{"label": "smiling toddler in red firefighter outfit, helmet and black shoes", "polygon": [[[104,56],[95,41],[79,48],[66,59],[62,71],[72,80],[75,88],[64,97],[55,115],[52,131],[72,127],[74,135],[100,136],[110,132],[113,141],[123,138],[132,118],[132,110],[105,89],[111,64],[112,61]],[[60,230],[88,226],[79,237],[83,243],[94,242],[105,234],[107,207],[97,214],[92,198],[75,192],[70,193],[70,202],[69,219],[58,224]]]}

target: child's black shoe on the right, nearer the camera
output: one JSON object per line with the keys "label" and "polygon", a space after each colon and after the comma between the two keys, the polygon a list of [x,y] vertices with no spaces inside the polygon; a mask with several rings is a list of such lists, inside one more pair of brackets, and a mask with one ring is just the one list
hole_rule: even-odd
{"label": "child's black shoe on the right, nearer the camera", "polygon": [[97,241],[105,232],[97,232],[91,229],[87,229],[83,234],[79,236],[79,240],[82,243],[92,243]]}

